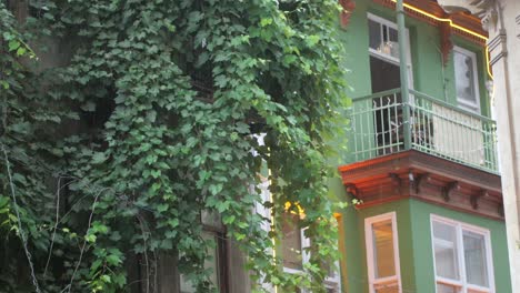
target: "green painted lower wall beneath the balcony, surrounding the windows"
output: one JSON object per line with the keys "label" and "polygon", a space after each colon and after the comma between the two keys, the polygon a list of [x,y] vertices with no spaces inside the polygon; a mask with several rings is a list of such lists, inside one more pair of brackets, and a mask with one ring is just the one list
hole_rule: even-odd
{"label": "green painted lower wall beneath the balcony, surrounding the windows", "polygon": [[346,240],[346,266],[342,272],[344,292],[369,292],[367,251],[364,244],[364,219],[396,212],[403,292],[434,293],[433,250],[431,244],[430,215],[452,219],[488,229],[494,269],[496,292],[511,292],[509,282],[506,225],[473,214],[453,211],[419,200],[400,200],[371,208],[343,212],[342,225]]}

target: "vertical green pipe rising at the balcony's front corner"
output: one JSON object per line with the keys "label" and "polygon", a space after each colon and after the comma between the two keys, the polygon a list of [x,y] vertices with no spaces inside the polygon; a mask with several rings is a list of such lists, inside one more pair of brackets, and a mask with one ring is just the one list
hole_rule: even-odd
{"label": "vertical green pipe rising at the balcony's front corner", "polygon": [[410,92],[408,90],[408,62],[407,62],[407,31],[404,27],[404,0],[397,0],[397,22],[398,22],[398,38],[399,38],[399,72],[401,75],[401,99],[403,112],[403,134],[404,134],[404,149],[411,149],[411,129],[410,129]]}

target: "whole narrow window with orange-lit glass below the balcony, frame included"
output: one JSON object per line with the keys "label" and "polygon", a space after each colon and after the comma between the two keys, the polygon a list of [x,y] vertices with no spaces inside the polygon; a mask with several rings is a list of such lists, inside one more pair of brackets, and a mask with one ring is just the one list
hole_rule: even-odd
{"label": "whole narrow window with orange-lit glass below the balcony, frame included", "polygon": [[370,293],[401,293],[396,213],[364,220]]}

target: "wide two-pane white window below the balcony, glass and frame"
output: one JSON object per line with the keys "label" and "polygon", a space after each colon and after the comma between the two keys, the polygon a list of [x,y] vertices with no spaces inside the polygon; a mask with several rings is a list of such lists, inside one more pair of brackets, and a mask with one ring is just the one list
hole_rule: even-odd
{"label": "wide two-pane white window below the balcony, glass and frame", "polygon": [[488,230],[431,216],[437,293],[494,292]]}

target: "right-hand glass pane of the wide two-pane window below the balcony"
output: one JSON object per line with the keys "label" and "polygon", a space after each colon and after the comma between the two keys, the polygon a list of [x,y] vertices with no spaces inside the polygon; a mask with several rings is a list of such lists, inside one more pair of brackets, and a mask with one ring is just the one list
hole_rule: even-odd
{"label": "right-hand glass pane of the wide two-pane window below the balcony", "polygon": [[462,236],[468,283],[489,286],[484,236],[470,231],[463,231]]}

